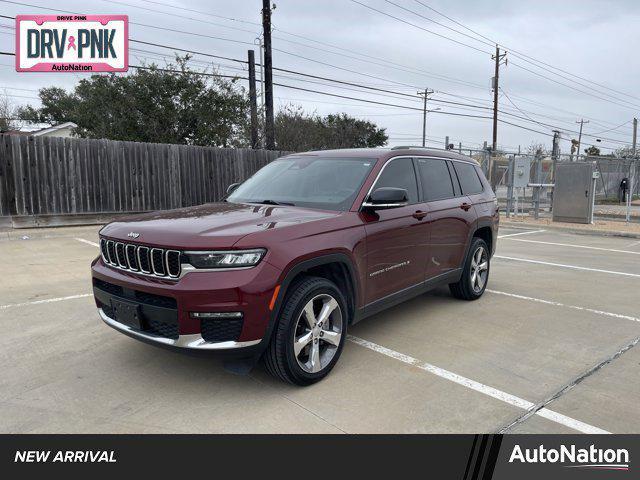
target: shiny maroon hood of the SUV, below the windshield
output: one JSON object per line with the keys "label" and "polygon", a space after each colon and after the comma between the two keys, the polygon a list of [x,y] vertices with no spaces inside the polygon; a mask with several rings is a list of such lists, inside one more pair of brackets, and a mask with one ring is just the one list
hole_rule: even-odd
{"label": "shiny maroon hood of the SUV, below the windshield", "polygon": [[[157,247],[229,248],[252,233],[278,230],[338,215],[340,212],[285,205],[210,203],[132,216],[110,223],[100,234]],[[133,238],[129,236],[130,233],[139,236]]]}

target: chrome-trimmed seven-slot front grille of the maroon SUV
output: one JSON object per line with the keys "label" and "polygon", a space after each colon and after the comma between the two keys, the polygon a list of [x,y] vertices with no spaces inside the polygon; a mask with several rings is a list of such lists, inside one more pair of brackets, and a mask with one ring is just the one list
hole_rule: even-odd
{"label": "chrome-trimmed seven-slot front grille of the maroon SUV", "polygon": [[180,252],[100,239],[102,260],[112,267],[156,277],[179,278]]}

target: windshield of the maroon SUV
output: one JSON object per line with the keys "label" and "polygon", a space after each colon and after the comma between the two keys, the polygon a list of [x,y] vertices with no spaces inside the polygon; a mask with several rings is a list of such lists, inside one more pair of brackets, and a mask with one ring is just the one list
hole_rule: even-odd
{"label": "windshield of the maroon SUV", "polygon": [[374,158],[282,158],[261,168],[227,201],[348,210],[375,162]]}

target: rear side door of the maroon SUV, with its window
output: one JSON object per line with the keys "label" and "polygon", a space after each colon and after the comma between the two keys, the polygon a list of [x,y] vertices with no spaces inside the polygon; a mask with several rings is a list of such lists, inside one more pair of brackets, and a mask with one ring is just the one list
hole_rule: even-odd
{"label": "rear side door of the maroon SUV, with its window", "polygon": [[427,203],[430,225],[426,279],[462,265],[475,212],[463,195],[451,162],[442,158],[417,158],[418,178]]}

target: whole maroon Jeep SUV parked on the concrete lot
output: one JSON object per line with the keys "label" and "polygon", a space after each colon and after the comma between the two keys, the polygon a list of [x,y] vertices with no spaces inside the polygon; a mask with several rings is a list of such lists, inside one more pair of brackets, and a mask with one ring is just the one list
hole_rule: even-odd
{"label": "whole maroon Jeep SUV parked on the concrete lot", "polygon": [[497,201],[468,157],[299,153],[228,192],[100,231],[93,291],[105,323],[235,365],[262,358],[307,385],[338,361],[348,325],[441,284],[465,300],[487,285]]}

